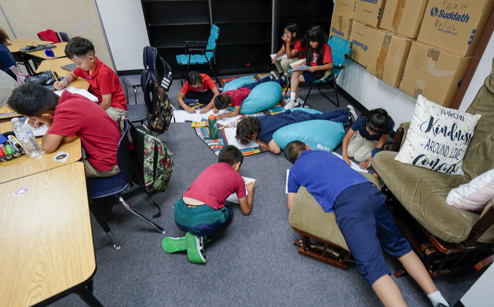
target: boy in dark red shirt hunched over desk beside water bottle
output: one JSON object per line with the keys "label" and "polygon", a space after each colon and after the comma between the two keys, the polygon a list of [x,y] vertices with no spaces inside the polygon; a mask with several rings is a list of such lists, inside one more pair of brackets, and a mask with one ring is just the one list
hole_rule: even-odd
{"label": "boy in dark red shirt hunched over desk beside water bottle", "polygon": [[7,104],[27,116],[31,126],[48,127],[42,141],[46,153],[56,151],[62,142],[78,136],[86,151],[87,158],[82,160],[86,177],[109,177],[120,172],[117,165],[120,129],[91,100],[69,91],[58,97],[37,83],[28,83],[14,89]]}

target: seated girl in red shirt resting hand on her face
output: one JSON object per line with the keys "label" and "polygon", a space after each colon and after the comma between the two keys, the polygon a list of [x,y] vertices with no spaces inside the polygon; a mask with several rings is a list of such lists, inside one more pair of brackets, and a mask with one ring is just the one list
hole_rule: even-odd
{"label": "seated girl in red shirt resting hand on her face", "polygon": [[[272,61],[279,73],[286,73],[290,76],[290,63],[293,63],[298,59],[305,59],[307,46],[302,39],[302,36],[298,36],[298,33],[302,32],[298,29],[298,25],[296,23],[289,23],[285,26],[283,35],[281,35],[281,40],[283,40],[284,43],[275,54]],[[286,54],[287,57],[278,60],[278,57],[283,56],[284,54]],[[302,55],[299,56],[299,54]]]}

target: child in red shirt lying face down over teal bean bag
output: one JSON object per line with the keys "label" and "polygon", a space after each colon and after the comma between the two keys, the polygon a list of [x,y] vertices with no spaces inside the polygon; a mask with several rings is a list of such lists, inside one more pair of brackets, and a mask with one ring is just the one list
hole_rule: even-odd
{"label": "child in red shirt lying face down over teal bean bag", "polygon": [[[242,106],[242,102],[247,98],[247,96],[250,94],[252,89],[261,83],[274,81],[275,78],[276,76],[272,72],[269,76],[261,80],[258,80],[254,83],[246,84],[242,87],[239,87],[238,89],[227,90],[219,95],[216,95],[215,99],[213,100],[216,110],[226,109],[229,106],[235,108],[232,112],[218,114],[216,116],[216,119],[220,120],[224,117],[237,116],[240,113],[240,107]],[[278,78],[275,82],[277,82],[281,86],[281,88],[284,88],[288,85],[288,77],[286,74],[284,74],[280,78]],[[216,110],[214,111],[215,113],[217,112]]]}

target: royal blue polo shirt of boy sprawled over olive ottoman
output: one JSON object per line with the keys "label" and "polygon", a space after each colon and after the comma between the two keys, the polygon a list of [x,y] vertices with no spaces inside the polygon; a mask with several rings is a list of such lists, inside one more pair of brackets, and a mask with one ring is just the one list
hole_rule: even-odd
{"label": "royal blue polo shirt of boy sprawled over olive ottoman", "polygon": [[325,212],[332,212],[334,200],[346,188],[367,181],[331,152],[305,150],[290,169],[288,193],[297,193],[299,186],[305,186]]}

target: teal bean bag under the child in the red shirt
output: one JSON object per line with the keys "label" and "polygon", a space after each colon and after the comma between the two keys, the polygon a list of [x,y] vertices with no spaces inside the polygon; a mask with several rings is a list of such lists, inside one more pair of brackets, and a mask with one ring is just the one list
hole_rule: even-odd
{"label": "teal bean bag under the child in the red shirt", "polygon": [[[254,87],[240,107],[240,113],[252,114],[274,107],[281,100],[281,86],[268,81]],[[230,110],[233,111],[233,107]]]}

